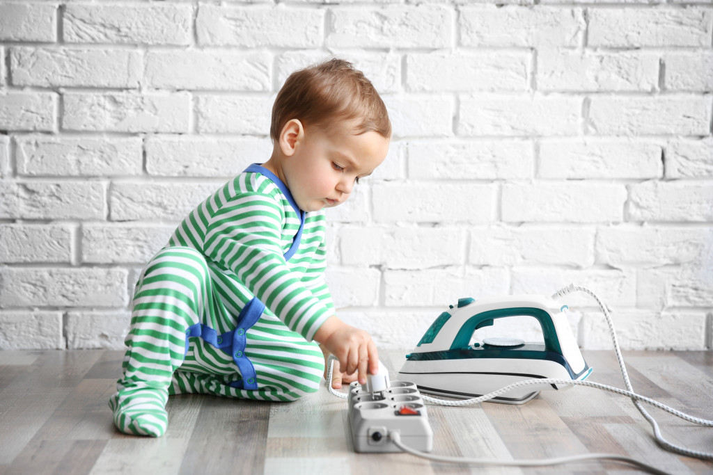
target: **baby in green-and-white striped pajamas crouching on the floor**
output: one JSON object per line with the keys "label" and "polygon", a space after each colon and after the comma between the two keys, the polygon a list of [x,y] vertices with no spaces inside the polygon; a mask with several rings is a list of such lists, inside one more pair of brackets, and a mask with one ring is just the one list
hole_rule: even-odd
{"label": "baby in green-and-white striped pajamas crouching on the floor", "polygon": [[121,432],[160,437],[168,395],[296,400],[319,389],[328,353],[334,387],[377,372],[369,334],[334,315],[323,209],[384,161],[384,103],[333,59],[287,78],[270,136],[270,160],[202,202],[143,269],[109,401]]}

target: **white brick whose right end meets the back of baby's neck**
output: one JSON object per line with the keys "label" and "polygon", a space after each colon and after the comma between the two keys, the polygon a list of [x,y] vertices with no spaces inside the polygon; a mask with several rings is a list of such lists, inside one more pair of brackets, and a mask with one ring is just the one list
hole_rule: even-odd
{"label": "white brick whose right end meets the back of baby's neck", "polygon": [[153,135],[146,140],[146,171],[160,177],[233,177],[271,153],[267,139]]}

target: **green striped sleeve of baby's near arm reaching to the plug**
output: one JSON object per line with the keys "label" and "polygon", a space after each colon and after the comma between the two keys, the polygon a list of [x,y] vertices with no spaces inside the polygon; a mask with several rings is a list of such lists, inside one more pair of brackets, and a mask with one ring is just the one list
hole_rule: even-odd
{"label": "green striped sleeve of baby's near arm reaching to the plug", "polygon": [[283,219],[284,209],[274,198],[241,193],[210,216],[204,253],[234,272],[291,330],[312,340],[332,312],[284,261]]}

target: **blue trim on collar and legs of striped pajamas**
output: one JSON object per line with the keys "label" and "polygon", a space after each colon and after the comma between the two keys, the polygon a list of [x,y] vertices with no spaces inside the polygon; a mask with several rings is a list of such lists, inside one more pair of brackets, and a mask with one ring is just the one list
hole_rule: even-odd
{"label": "blue trim on collar and legs of striped pajamas", "polygon": [[[292,240],[292,246],[289,247],[287,252],[284,253],[284,260],[289,261],[289,259],[297,252],[299,248],[299,241],[302,239],[302,230],[304,229],[304,216],[305,213],[297,207],[297,203],[294,202],[292,194],[289,192],[284,183],[275,176],[270,170],[257,165],[256,163],[250,165],[245,169],[245,172],[257,172],[265,177],[272,180],[273,183],[277,185],[282,194],[287,197],[287,201],[292,205],[292,209],[299,216],[299,229],[297,234],[295,234]],[[240,315],[237,316],[237,323],[234,330],[222,333],[218,335],[217,332],[207,325],[202,323],[196,323],[195,325],[190,325],[185,333],[185,354],[188,354],[189,341],[188,338],[200,337],[209,343],[232,356],[233,362],[237,365],[240,370],[240,375],[242,375],[242,380],[233,381],[230,386],[241,390],[257,390],[257,375],[255,373],[255,367],[252,362],[245,356],[245,343],[247,342],[245,338],[245,333],[248,329],[255,325],[257,320],[260,319],[260,315],[265,311],[265,303],[262,303],[257,297],[253,297],[250,302],[247,303],[245,307],[240,311]]]}

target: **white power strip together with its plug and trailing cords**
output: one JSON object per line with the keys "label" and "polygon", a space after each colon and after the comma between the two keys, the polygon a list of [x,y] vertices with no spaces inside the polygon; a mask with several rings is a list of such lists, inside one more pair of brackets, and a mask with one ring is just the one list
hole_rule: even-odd
{"label": "white power strip together with its plug and trailing cords", "polygon": [[[543,383],[551,383],[553,385],[594,387],[599,390],[605,390],[618,395],[630,397],[637,409],[639,409],[645,419],[652,425],[656,442],[660,444],[663,449],[676,452],[677,454],[692,456],[697,459],[712,460],[713,454],[679,447],[675,444],[667,442],[667,440],[662,437],[657,422],[645,410],[642,406],[642,402],[657,407],[658,409],[662,409],[670,414],[674,414],[675,416],[694,424],[713,427],[713,421],[690,416],[689,414],[685,414],[677,409],[673,409],[672,407],[668,407],[665,404],[652,400],[649,397],[636,394],[632,388],[629,375],[624,364],[624,359],[621,355],[614,324],[612,323],[610,310],[607,306],[602,303],[600,298],[597,297],[595,293],[587,288],[575,286],[574,284],[570,284],[569,286],[560,289],[560,291],[553,295],[553,298],[561,298],[575,291],[588,293],[588,295],[592,296],[595,301],[597,301],[597,304],[602,309],[612,335],[612,343],[614,344],[614,350],[622,372],[622,377],[624,378],[626,390],[622,390],[618,387],[602,385],[592,381],[535,379],[515,382],[487,395],[473,397],[468,400],[443,400],[421,395],[418,388],[413,383],[403,381],[389,382],[386,367],[380,363],[379,375],[369,375],[368,382],[364,388],[360,387],[356,383],[352,383],[349,394],[336,391],[330,384],[327,384],[327,389],[332,395],[349,400],[349,424],[352,427],[354,449],[356,449],[356,451],[376,452],[405,451],[409,454],[425,459],[451,464],[551,466],[590,460],[609,460],[630,464],[638,469],[649,471],[652,474],[666,474],[665,471],[647,465],[642,461],[616,454],[583,454],[550,459],[520,459],[510,461],[496,459],[468,459],[426,453],[431,451],[433,444],[433,432],[428,422],[426,406],[423,402],[431,402],[432,404],[441,404],[446,406],[479,404],[481,402],[491,400],[494,397],[498,397],[498,395],[506,393],[515,387],[523,387],[527,385],[541,386]],[[332,375],[334,374],[334,362],[336,361],[336,357],[329,357],[327,362],[327,382],[332,381]],[[381,370],[381,368],[384,369]],[[384,375],[384,372],[386,372],[386,375]]]}

